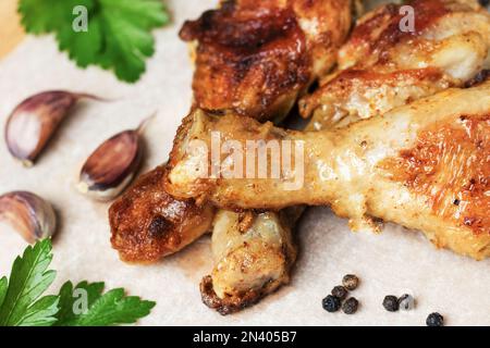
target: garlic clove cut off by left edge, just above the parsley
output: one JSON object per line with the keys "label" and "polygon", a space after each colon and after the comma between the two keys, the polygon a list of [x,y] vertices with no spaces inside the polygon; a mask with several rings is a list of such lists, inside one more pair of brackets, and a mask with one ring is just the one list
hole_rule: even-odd
{"label": "garlic clove cut off by left edge, just above the parsley", "polygon": [[0,220],[8,221],[29,244],[51,237],[57,228],[51,204],[27,191],[0,196]]}

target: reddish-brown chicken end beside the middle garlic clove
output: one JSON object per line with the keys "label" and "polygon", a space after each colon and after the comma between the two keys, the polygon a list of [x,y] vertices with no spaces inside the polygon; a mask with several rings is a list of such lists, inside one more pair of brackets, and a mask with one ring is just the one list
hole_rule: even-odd
{"label": "reddish-brown chicken end beside the middle garlic clove", "polygon": [[166,173],[159,166],[140,176],[109,210],[112,247],[125,262],[156,262],[211,227],[212,206],[173,199],[162,186]]}

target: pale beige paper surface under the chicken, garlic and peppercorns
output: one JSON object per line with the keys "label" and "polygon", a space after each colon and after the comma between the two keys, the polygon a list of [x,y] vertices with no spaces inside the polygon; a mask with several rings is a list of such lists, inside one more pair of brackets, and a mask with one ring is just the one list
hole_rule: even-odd
{"label": "pale beige paper surface under the chicken, garlic and peppercorns", "polygon": [[[158,302],[140,321],[146,325],[424,325],[432,311],[441,312],[448,325],[490,325],[490,260],[476,262],[438,251],[421,234],[399,226],[388,226],[381,235],[352,234],[346,221],[328,209],[311,209],[301,223],[301,253],[291,285],[231,316],[223,318],[200,302],[198,282],[211,268],[209,238],[152,266],[130,266],[118,260],[109,244],[107,204],[77,194],[76,173],[98,144],[135,127],[157,109],[158,117],[146,133],[145,167],[166,160],[191,100],[192,71],[187,48],[176,38],[177,29],[184,18],[195,17],[215,3],[169,1],[174,23],[156,32],[157,53],[137,85],[119,83],[112,74],[96,67],[76,69],[58,52],[50,36],[28,36],[0,61],[2,127],[23,98],[46,89],[65,88],[119,99],[78,108],[33,169],[23,169],[12,160],[0,142],[0,191],[33,190],[50,200],[59,212],[61,226],[52,263],[58,277],[52,291],[69,278],[123,286],[132,295]],[[14,257],[24,248],[25,243],[9,226],[0,225],[0,274],[10,272]],[[324,312],[321,299],[347,272],[362,278],[353,294],[362,308],[351,316]],[[384,295],[403,293],[416,296],[417,309],[385,312],[381,307]]]}

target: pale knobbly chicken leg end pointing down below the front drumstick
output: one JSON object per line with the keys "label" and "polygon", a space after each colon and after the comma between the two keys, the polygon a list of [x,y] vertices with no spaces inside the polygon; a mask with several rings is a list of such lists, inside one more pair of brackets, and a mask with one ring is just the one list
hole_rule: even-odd
{"label": "pale knobbly chicken leg end pointing down below the front drumstick", "polygon": [[290,279],[296,260],[292,228],[303,213],[220,210],[212,232],[215,268],[200,284],[203,301],[221,314],[256,303]]}

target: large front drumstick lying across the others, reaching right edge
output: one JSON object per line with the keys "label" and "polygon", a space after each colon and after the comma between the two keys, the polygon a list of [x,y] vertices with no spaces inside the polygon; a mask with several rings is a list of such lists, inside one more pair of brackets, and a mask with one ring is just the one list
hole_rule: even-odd
{"label": "large front drumstick lying across the others, reaching right edge", "polygon": [[188,119],[188,136],[207,144],[210,132],[220,132],[223,141],[258,135],[304,141],[304,185],[285,190],[298,169],[292,178],[280,179],[182,175],[184,169],[193,173],[196,163],[208,163],[203,153],[187,153],[172,159],[166,184],[176,197],[199,197],[225,209],[328,204],[351,219],[354,229],[378,217],[420,229],[438,247],[477,260],[490,257],[490,82],[332,130],[284,130],[200,110]]}

